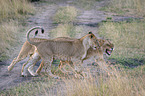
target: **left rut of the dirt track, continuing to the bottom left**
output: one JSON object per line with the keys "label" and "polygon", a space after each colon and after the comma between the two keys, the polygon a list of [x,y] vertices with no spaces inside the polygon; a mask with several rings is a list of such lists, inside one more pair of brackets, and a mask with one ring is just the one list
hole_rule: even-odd
{"label": "left rut of the dirt track, continuing to the bottom left", "polygon": [[[49,30],[53,28],[51,16],[55,13],[58,8],[57,5],[47,5],[47,4],[37,4],[38,12],[36,15],[30,17],[26,22],[28,22],[28,28],[34,26],[43,26],[45,28],[45,36],[48,37]],[[42,37],[42,36],[41,36]],[[26,40],[24,38],[24,40]],[[24,41],[25,42],[25,41]],[[6,62],[0,62],[0,91],[8,89],[12,86],[16,86],[22,82],[29,82],[33,78],[37,77],[21,77],[21,67],[22,64],[27,61],[23,60],[15,65],[12,71],[8,72],[7,67],[12,60]],[[37,66],[38,67],[38,66]]]}

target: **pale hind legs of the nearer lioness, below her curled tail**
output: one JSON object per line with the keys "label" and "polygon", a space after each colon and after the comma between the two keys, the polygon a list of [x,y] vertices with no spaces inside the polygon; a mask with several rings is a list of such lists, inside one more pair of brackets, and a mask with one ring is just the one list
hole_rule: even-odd
{"label": "pale hind legs of the nearer lioness, below her curled tail", "polygon": [[[36,61],[39,59],[39,54],[35,52],[32,57],[28,60],[28,63],[25,64],[24,70],[22,70],[22,76],[27,76],[27,70],[30,72],[32,76],[35,76],[34,71],[32,71],[33,67],[30,67],[31,65],[35,64]],[[30,67],[30,69],[28,69]]]}

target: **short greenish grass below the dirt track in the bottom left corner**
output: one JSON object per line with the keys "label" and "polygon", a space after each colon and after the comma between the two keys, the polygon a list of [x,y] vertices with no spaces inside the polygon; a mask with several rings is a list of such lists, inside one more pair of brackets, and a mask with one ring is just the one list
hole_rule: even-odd
{"label": "short greenish grass below the dirt track in the bottom left corner", "polygon": [[[37,96],[48,95],[48,89],[56,83],[54,79],[46,77],[35,78],[29,83],[21,83],[9,90],[1,91],[0,96]],[[50,91],[49,91],[50,92]]]}

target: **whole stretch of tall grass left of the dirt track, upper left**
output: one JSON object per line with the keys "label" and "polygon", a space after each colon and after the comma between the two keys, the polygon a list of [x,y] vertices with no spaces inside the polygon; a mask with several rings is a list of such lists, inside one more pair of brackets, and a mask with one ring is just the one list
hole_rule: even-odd
{"label": "whole stretch of tall grass left of the dirt track, upper left", "polygon": [[34,13],[34,7],[27,0],[0,0],[0,60],[9,57],[12,47],[18,44],[20,23],[28,14]]}

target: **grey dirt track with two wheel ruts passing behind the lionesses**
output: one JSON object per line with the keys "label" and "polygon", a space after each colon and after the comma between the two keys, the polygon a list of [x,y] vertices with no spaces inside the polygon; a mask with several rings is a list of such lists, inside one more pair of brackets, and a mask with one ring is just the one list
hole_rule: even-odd
{"label": "grey dirt track with two wheel ruts passing behind the lionesses", "polygon": [[[66,6],[69,5],[70,1],[62,1],[57,2],[56,4],[37,4],[38,12],[36,15],[30,17],[26,22],[28,23],[28,28],[34,26],[43,26],[45,28],[45,36],[49,38],[49,32],[51,29],[55,27],[52,22],[52,16],[56,12],[59,6]],[[102,20],[105,20],[108,16],[103,11],[99,11],[99,8],[104,5],[106,2],[101,1],[96,4],[96,8],[92,10],[81,10],[80,16],[77,18],[76,26],[81,26],[85,30],[84,33],[77,34],[76,37],[81,37],[86,34],[88,31],[92,31],[97,35],[97,28],[98,23]],[[11,60],[10,60],[11,61]],[[16,64],[14,69],[11,72],[7,71],[7,66],[10,64],[10,61],[7,62],[0,62],[0,91],[4,89],[8,89],[12,86],[17,86],[19,83],[22,82],[30,82],[33,78],[37,77],[21,77],[21,67],[22,64],[26,61],[19,62]],[[38,64],[39,65],[39,64]],[[38,67],[38,66],[37,66]],[[37,68],[36,67],[36,68]]]}

